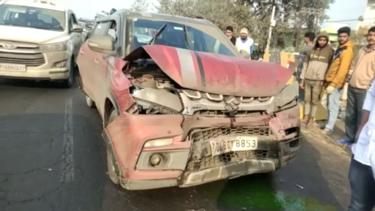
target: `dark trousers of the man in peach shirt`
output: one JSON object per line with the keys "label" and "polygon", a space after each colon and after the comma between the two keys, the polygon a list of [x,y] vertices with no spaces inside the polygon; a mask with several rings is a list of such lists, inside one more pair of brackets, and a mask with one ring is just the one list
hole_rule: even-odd
{"label": "dark trousers of the man in peach shirt", "polygon": [[345,115],[345,134],[348,141],[354,143],[362,118],[362,107],[366,98],[366,89],[357,89],[348,85],[347,110]]}

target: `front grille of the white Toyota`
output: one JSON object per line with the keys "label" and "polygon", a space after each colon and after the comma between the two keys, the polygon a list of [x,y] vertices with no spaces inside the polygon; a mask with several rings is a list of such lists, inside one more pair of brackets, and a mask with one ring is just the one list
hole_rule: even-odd
{"label": "front grille of the white Toyota", "polygon": [[[7,49],[5,46],[6,43],[9,42],[17,47],[14,49]],[[45,59],[37,44],[0,40],[0,63],[12,63],[36,67],[43,65]]]}

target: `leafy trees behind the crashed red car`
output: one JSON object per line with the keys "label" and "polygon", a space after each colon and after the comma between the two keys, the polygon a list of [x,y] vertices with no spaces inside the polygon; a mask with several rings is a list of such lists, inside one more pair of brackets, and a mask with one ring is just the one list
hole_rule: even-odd
{"label": "leafy trees behind the crashed red car", "polygon": [[[318,4],[317,2],[320,2]],[[303,8],[317,8],[321,12],[319,22],[327,19],[325,9],[334,0],[158,0],[157,11],[186,17],[203,17],[220,29],[234,28],[239,35],[242,27],[249,29],[250,36],[259,47],[265,47],[270,26],[271,11],[275,9],[276,26],[273,28],[271,48],[284,49],[297,38],[299,25],[314,28],[314,15],[302,14]],[[311,21],[312,20],[312,21]],[[293,36],[294,35],[294,36]]]}

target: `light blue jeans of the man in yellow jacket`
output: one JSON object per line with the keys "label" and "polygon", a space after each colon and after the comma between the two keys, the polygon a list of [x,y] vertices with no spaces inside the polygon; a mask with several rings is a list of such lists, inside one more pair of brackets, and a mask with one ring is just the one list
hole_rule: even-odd
{"label": "light blue jeans of the man in yellow jacket", "polygon": [[328,121],[326,130],[332,131],[339,115],[339,101],[342,87],[335,87],[332,93],[327,94]]}

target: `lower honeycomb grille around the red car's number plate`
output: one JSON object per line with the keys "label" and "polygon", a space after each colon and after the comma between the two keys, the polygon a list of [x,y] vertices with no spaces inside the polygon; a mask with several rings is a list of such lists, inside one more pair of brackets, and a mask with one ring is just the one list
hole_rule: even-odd
{"label": "lower honeycomb grille around the red car's number plate", "polygon": [[[208,139],[214,139],[219,136],[228,136],[233,134],[249,134],[252,136],[272,136],[272,130],[269,127],[220,127],[193,129],[190,131],[190,140],[193,142],[193,154],[199,154],[196,147],[197,142]],[[187,164],[187,170],[203,170],[211,167],[223,166],[225,164],[241,161],[244,159],[267,159],[278,158],[278,151],[251,150],[242,152],[228,152],[222,155],[212,157],[211,155],[193,158],[191,157]]]}

